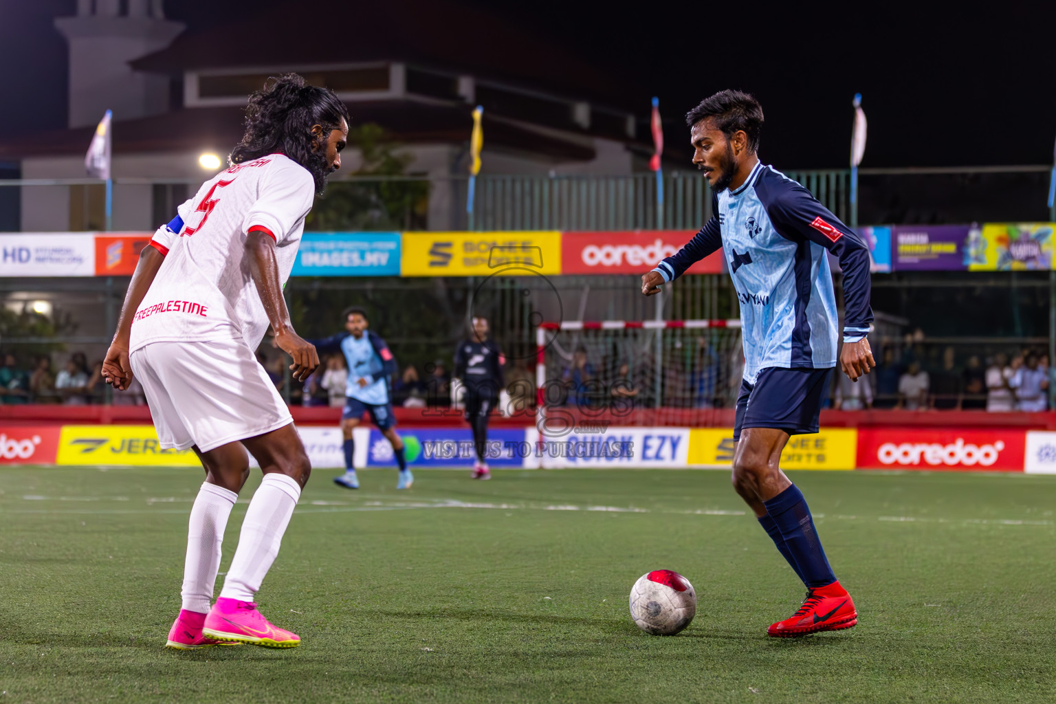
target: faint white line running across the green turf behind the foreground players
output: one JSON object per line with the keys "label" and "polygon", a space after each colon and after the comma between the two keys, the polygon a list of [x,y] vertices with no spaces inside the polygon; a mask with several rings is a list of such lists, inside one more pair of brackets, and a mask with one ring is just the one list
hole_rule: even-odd
{"label": "faint white line running across the green turf behind the foreground players", "polygon": [[[22,496],[23,500],[26,501],[128,501],[131,500],[127,496],[79,496],[79,497],[69,497],[69,496],[58,496],[58,497],[48,497],[35,494],[30,494]],[[190,502],[192,499],[183,499],[176,497],[150,497],[146,499],[147,506],[155,507],[158,505],[174,503],[174,502]],[[460,499],[434,499],[434,500],[420,500],[420,501],[384,501],[384,500],[369,500],[355,506],[350,501],[329,501],[329,500],[313,500],[306,503],[302,503],[296,510],[297,513],[301,514],[322,514],[322,513],[362,513],[362,512],[376,512],[376,511],[413,511],[418,509],[478,509],[486,511],[583,511],[583,512],[601,512],[601,513],[660,513],[660,514],[675,514],[675,515],[700,515],[700,516],[743,516],[746,511],[731,511],[723,509],[660,509],[652,510],[644,509],[641,507],[617,507],[617,506],[599,506],[599,505],[586,505],[580,506],[574,503],[542,503],[542,502],[491,502],[491,501],[464,501]],[[60,510],[56,508],[55,510],[48,509],[34,509],[34,510],[20,510],[14,509],[10,513],[21,513],[21,514],[77,514],[77,515],[119,515],[119,514],[184,514],[187,511],[185,509],[171,509],[164,510],[161,508],[154,509],[98,509],[98,510]],[[829,520],[868,520],[868,516],[856,516],[847,514],[833,514],[826,515],[824,513],[816,513],[814,517],[817,519],[829,519]],[[1020,518],[943,518],[943,517],[932,517],[932,516],[876,516],[874,520],[882,522],[907,522],[907,524],[951,524],[961,526],[1035,526],[1035,527],[1049,527],[1056,525],[1053,520],[1029,520]]]}

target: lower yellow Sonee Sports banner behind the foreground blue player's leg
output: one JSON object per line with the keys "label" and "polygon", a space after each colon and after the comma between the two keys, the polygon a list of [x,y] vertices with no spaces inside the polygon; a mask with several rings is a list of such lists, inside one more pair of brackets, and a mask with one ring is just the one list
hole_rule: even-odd
{"label": "lower yellow Sonee Sports banner behind the foreground blue player's leg", "polygon": [[[853,470],[857,431],[823,429],[813,435],[793,435],[781,452],[786,470]],[[721,468],[733,464],[732,427],[695,427],[690,431],[690,467]]]}

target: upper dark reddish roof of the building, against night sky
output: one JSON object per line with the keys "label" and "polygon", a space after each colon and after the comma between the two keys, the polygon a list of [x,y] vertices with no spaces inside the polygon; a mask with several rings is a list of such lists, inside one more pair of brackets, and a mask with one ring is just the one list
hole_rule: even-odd
{"label": "upper dark reddish roof of the building, against night sky", "polygon": [[[644,94],[626,76],[600,69],[605,65],[601,59],[597,64],[584,61],[522,25],[455,0],[341,3],[345,17],[333,34],[315,26],[322,17],[306,7],[283,2],[234,24],[191,30],[131,65],[177,75],[203,69],[406,61],[628,110]],[[326,21],[332,21],[329,15]]]}

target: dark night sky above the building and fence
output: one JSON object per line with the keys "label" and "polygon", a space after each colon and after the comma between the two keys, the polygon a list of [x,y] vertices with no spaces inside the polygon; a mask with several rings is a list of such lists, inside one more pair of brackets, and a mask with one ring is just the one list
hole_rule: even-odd
{"label": "dark night sky above the building and fence", "polygon": [[[165,6],[169,17],[193,27],[278,1],[166,0]],[[643,117],[649,96],[659,95],[672,151],[687,136],[681,114],[714,91],[739,88],[763,106],[763,160],[786,168],[846,165],[855,92],[863,93],[869,117],[863,166],[1053,158],[1052,3],[942,3],[957,7],[951,12],[926,2],[853,9],[849,2],[809,9],[784,2],[772,9],[768,3],[533,0],[526,9],[529,3],[459,1],[625,79],[627,98],[642,106]],[[327,7],[354,12],[356,4]],[[74,7],[75,0],[0,0],[0,138],[64,125],[65,44],[52,19]],[[320,40],[331,40],[325,22],[318,26]]]}

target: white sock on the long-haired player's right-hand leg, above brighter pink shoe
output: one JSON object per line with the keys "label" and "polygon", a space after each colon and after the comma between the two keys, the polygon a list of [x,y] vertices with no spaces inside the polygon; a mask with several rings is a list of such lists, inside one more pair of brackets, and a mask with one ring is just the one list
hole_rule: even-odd
{"label": "white sock on the long-haired player's right-hand leg, above brighter pink shoe", "polygon": [[253,594],[260,591],[264,575],[279,554],[282,535],[300,497],[301,486],[293,477],[277,472],[264,475],[242,521],[239,547],[221,596],[253,601]]}

